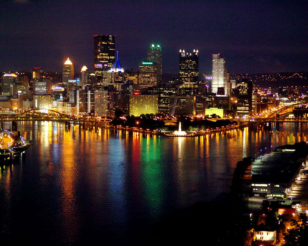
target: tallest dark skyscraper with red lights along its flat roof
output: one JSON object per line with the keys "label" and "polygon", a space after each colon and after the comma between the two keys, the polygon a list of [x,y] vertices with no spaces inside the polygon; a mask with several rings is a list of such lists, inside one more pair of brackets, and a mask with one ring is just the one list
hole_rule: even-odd
{"label": "tallest dark skyscraper with red lights along its flat roof", "polygon": [[115,62],[115,36],[94,35],[94,71],[97,75],[98,89],[107,85],[107,71]]}

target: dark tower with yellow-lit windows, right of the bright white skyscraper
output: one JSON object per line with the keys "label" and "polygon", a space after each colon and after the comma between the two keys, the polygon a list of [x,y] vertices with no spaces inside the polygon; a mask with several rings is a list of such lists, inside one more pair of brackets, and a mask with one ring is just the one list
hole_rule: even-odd
{"label": "dark tower with yellow-lit windows, right of the bright white skyscraper", "polygon": [[237,82],[237,115],[248,116],[252,114],[252,81],[243,79]]}

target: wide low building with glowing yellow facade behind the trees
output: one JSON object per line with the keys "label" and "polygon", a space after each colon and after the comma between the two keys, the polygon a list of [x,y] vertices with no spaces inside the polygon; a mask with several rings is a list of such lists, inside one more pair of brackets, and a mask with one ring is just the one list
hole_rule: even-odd
{"label": "wide low building with glowing yellow facade behind the trees", "polygon": [[157,114],[157,95],[130,95],[128,115],[140,116],[141,114]]}

